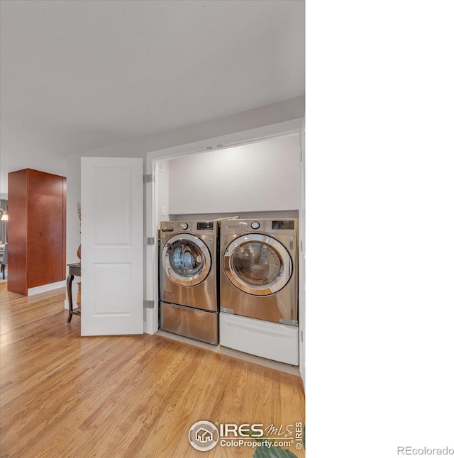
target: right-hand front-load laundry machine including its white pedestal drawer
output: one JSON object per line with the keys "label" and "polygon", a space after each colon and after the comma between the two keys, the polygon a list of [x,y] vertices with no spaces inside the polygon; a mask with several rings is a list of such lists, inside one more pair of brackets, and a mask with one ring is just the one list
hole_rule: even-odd
{"label": "right-hand front-load laundry machine including its white pedestal drawer", "polygon": [[223,220],[220,344],[298,364],[298,219]]}

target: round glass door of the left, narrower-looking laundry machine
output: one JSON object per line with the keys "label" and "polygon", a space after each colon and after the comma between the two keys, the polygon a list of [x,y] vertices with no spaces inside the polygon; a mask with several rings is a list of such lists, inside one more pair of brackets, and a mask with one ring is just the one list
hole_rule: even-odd
{"label": "round glass door of the left, narrower-looking laundry machine", "polygon": [[211,255],[203,240],[195,235],[174,235],[162,248],[162,264],[174,283],[196,286],[208,277]]}

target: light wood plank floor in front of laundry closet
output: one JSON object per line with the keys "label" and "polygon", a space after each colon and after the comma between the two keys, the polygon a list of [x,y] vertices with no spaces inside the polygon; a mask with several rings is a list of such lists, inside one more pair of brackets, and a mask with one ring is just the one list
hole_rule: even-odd
{"label": "light wood plank floor in front of laundry closet", "polygon": [[252,457],[199,452],[189,428],[304,424],[298,376],[159,335],[80,337],[64,289],[25,298],[1,281],[0,295],[1,457]]}

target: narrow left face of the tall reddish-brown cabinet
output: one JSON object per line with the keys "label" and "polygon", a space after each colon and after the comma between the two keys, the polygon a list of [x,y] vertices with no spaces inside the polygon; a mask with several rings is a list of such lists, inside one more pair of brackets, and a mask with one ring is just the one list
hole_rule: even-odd
{"label": "narrow left face of the tall reddish-brown cabinet", "polygon": [[27,170],[8,174],[8,291],[27,296]]}

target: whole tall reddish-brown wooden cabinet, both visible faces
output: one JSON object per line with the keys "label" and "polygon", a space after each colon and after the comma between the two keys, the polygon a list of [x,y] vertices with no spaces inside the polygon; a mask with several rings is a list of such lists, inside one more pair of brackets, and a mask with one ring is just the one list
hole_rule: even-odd
{"label": "whole tall reddish-brown wooden cabinet, both visible faces", "polygon": [[8,174],[8,290],[65,280],[66,178],[23,169]]}

